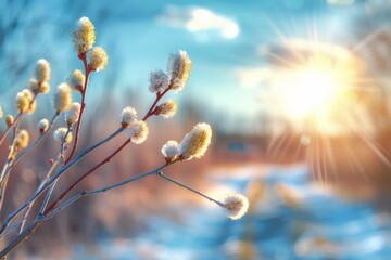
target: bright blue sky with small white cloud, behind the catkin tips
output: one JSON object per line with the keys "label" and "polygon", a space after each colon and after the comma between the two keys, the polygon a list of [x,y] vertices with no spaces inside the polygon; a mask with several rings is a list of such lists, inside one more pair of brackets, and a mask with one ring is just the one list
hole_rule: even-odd
{"label": "bright blue sky with small white cloud, behind the catkin tips", "polygon": [[[96,24],[97,44],[110,55],[108,68],[91,81],[91,96],[108,89],[121,94],[131,88],[149,99],[149,70],[165,68],[171,52],[186,50],[193,69],[187,89],[176,98],[197,101],[206,115],[217,110],[227,117],[256,120],[264,109],[257,99],[262,86],[249,86],[241,72],[265,66],[262,48],[282,39],[349,44],[354,41],[352,21],[367,15],[369,5],[379,9],[381,1],[36,0],[27,1],[27,8],[12,2],[0,4],[2,24],[12,13],[25,23],[1,46],[1,75],[10,73],[15,55],[18,63],[46,57],[52,64],[51,84],[64,81],[72,69],[80,67],[70,31],[79,17],[88,16]],[[1,99],[9,99],[17,86],[27,82],[33,69],[34,63],[28,64],[15,81],[0,84]]]}

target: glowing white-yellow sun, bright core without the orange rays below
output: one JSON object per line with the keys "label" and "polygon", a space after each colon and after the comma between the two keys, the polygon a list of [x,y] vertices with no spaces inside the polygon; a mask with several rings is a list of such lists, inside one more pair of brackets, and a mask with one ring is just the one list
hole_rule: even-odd
{"label": "glowing white-yellow sun, bright core without the orange rays below", "polygon": [[[274,67],[269,88],[274,109],[299,132],[338,135],[369,126],[363,114],[361,80],[365,66],[356,55],[326,43],[289,42],[289,63]],[[310,49],[311,48],[311,49]],[[360,114],[360,115],[358,115]],[[371,129],[367,129],[370,132]]]}

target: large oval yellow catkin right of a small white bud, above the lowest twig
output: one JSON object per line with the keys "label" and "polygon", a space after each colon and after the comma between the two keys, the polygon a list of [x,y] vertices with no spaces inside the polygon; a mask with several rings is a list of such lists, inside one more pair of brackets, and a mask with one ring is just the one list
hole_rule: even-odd
{"label": "large oval yellow catkin right of a small white bud, above the lowest twig", "polygon": [[206,122],[199,122],[194,128],[185,135],[179,143],[179,156],[182,159],[192,157],[201,158],[211,143],[212,129]]}

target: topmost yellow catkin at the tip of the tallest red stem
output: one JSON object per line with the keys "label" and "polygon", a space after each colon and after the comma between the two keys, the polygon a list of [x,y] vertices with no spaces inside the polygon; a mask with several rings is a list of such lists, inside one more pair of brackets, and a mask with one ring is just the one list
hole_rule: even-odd
{"label": "topmost yellow catkin at the tip of the tallest red stem", "polygon": [[88,17],[81,17],[76,23],[76,28],[72,32],[72,40],[77,54],[85,55],[96,41],[93,24]]}

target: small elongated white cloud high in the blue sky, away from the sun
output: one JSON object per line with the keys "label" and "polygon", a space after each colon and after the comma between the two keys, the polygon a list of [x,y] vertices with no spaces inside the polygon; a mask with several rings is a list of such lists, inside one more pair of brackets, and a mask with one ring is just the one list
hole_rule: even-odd
{"label": "small elongated white cloud high in the blue sky, away from the sun", "polygon": [[240,32],[235,21],[204,8],[169,5],[163,14],[157,16],[157,21],[165,25],[185,28],[191,32],[217,30],[226,39],[234,39]]}

